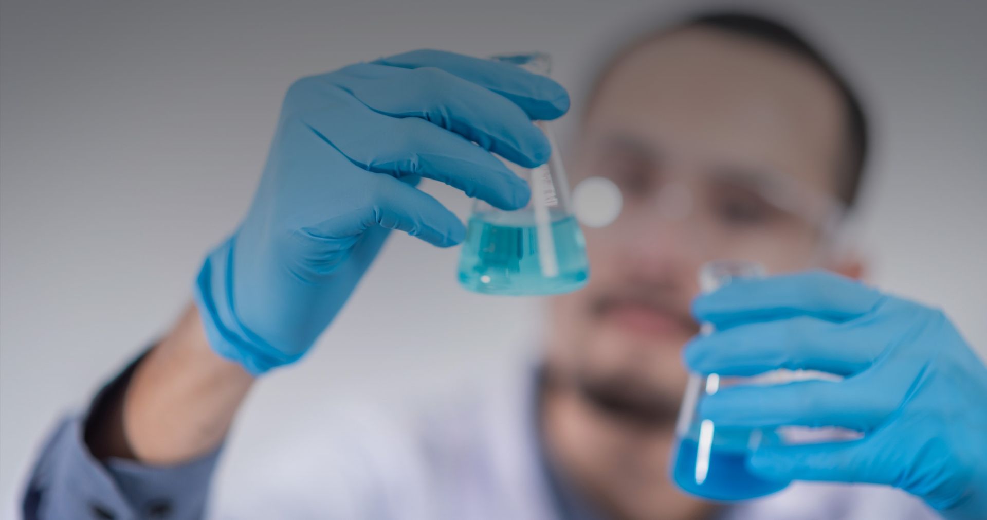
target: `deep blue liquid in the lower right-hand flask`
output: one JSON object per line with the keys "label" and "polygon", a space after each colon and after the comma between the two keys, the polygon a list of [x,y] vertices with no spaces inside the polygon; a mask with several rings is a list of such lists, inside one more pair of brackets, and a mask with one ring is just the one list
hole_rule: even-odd
{"label": "deep blue liquid in the lower right-hand flask", "polygon": [[695,439],[680,439],[672,478],[688,493],[721,501],[757,498],[784,489],[789,484],[766,481],[747,471],[744,462],[748,453],[743,444],[718,446],[714,442],[705,471],[697,472],[697,464],[701,464],[698,460],[699,444]]}

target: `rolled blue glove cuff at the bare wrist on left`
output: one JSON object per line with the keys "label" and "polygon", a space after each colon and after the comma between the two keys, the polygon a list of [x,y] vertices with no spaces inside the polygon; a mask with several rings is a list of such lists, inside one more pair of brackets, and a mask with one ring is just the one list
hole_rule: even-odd
{"label": "rolled blue glove cuff at the bare wrist on left", "polygon": [[193,296],[205,329],[206,339],[221,357],[239,363],[255,376],[271,368],[291,363],[299,356],[288,356],[264,338],[244,327],[233,305],[233,250],[231,236],[206,256],[195,278]]}

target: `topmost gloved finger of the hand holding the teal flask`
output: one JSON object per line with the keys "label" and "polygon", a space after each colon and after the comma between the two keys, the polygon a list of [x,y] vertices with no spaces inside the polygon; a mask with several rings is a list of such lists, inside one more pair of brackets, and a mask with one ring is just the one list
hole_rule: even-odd
{"label": "topmost gloved finger of the hand holding the teal flask", "polygon": [[503,96],[532,119],[555,119],[569,111],[569,93],[562,85],[509,63],[429,49],[381,58],[376,63],[442,69]]}

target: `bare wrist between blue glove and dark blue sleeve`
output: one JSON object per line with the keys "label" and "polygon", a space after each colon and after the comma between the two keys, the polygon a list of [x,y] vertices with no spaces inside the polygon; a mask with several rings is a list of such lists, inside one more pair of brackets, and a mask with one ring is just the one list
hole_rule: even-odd
{"label": "bare wrist between blue glove and dark blue sleeve", "polygon": [[190,305],[140,362],[129,384],[87,435],[97,457],[176,464],[216,448],[254,382],[216,355]]}

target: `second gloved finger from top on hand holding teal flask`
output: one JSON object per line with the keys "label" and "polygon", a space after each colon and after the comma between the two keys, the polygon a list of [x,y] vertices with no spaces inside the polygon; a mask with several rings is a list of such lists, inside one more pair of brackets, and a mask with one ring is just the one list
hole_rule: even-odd
{"label": "second gloved finger from top on hand holding teal flask", "polygon": [[527,168],[552,153],[545,134],[517,105],[440,68],[361,63],[335,73],[334,82],[373,111],[420,117]]}

